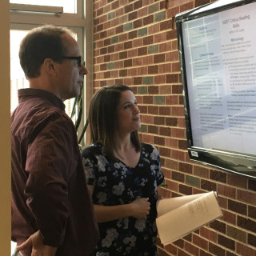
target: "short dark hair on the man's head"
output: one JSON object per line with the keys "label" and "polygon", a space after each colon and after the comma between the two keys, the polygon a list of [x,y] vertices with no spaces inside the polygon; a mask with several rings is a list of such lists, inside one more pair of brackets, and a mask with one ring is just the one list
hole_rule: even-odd
{"label": "short dark hair on the man's head", "polygon": [[72,31],[66,27],[45,25],[30,30],[22,39],[19,49],[19,59],[26,78],[38,78],[40,66],[46,58],[61,62],[66,49],[62,35]]}

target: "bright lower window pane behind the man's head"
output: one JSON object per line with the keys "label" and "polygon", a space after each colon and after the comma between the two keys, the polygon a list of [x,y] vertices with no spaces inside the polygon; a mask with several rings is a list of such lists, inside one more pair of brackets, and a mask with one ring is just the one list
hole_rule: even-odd
{"label": "bright lower window pane behind the man's head", "polygon": [[[19,43],[22,38],[28,33],[28,30],[10,30],[10,111],[14,111],[18,106],[18,89],[29,87],[29,82],[26,80],[25,74],[19,63],[18,50]],[[73,34],[77,39],[77,34]],[[70,116],[72,111],[74,98],[66,100],[66,114]],[[76,118],[76,117],[74,117]]]}

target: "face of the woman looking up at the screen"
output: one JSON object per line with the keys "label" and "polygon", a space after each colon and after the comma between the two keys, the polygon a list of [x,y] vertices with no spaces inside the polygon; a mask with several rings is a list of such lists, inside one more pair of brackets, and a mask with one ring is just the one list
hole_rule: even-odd
{"label": "face of the woman looking up at the screen", "polygon": [[137,100],[130,90],[122,91],[118,105],[119,132],[122,134],[131,133],[141,127]]}

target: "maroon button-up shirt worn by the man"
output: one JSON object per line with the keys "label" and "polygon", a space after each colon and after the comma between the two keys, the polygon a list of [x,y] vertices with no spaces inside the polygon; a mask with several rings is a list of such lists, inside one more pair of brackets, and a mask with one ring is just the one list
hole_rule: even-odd
{"label": "maroon button-up shirt worn by the man", "polygon": [[[45,90],[18,91],[12,114],[12,240],[20,245],[40,230],[58,256],[86,256],[98,225],[74,124],[65,105]],[[22,252],[30,255],[30,252]]]}

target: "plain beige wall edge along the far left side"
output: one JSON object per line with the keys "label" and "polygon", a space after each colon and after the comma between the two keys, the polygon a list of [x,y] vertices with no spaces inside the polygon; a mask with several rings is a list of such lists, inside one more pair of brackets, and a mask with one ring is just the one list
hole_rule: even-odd
{"label": "plain beige wall edge along the far left side", "polygon": [[10,255],[10,54],[9,0],[0,1],[0,255]]}

